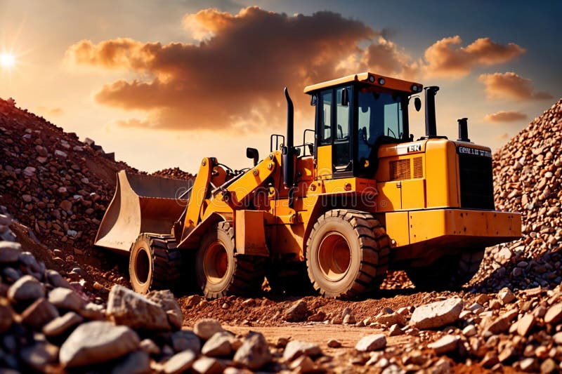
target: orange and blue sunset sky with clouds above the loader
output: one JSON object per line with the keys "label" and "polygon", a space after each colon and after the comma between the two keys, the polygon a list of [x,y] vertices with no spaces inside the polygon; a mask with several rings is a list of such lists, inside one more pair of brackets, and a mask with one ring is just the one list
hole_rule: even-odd
{"label": "orange and blue sunset sky with clouds above the loader", "polygon": [[[0,0],[0,98],[144,171],[250,166],[303,88],[370,71],[440,86],[439,135],[497,149],[562,97],[561,1]],[[422,98],[423,100],[423,98]],[[424,135],[423,110],[410,131]]]}

